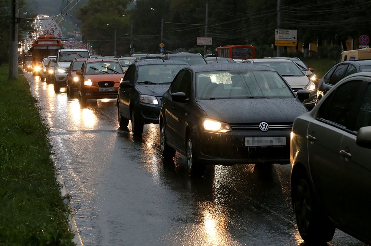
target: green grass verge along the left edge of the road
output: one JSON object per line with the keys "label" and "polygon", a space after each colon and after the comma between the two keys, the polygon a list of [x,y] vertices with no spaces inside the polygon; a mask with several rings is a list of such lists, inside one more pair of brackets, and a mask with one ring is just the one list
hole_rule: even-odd
{"label": "green grass verge along the left edge of the road", "polygon": [[0,67],[0,245],[75,245],[27,79]]}

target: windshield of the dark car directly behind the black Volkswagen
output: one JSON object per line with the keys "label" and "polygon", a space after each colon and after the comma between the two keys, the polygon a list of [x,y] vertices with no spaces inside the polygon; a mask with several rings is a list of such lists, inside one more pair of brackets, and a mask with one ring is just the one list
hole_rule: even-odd
{"label": "windshield of the dark car directly behind the black Volkswagen", "polygon": [[138,66],[137,83],[171,83],[185,64],[149,64]]}

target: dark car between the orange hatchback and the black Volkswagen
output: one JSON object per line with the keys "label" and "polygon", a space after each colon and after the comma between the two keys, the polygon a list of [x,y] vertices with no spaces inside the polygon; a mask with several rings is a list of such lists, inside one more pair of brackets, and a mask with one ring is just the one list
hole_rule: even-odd
{"label": "dark car between the orange hatchback and the black Volkswagen", "polygon": [[162,94],[175,75],[188,63],[176,60],[143,60],[128,67],[117,95],[118,123],[134,134],[142,134],[144,124],[158,124]]}

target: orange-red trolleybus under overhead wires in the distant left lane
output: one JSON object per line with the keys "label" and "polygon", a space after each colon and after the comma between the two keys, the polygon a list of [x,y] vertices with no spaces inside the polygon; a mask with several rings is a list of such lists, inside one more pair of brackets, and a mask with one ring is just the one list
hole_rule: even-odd
{"label": "orange-red trolleybus under overhead wires in the distant left lane", "polygon": [[33,40],[30,49],[32,52],[33,75],[40,74],[43,59],[48,56],[55,56],[59,49],[63,49],[62,41],[56,39],[53,35],[40,35],[36,40]]}

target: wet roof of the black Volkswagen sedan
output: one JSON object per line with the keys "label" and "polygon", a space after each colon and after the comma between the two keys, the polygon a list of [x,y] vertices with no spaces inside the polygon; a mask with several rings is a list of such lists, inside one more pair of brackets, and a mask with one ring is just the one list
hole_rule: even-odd
{"label": "wet roof of the black Volkswagen sedan", "polygon": [[205,65],[193,65],[189,66],[188,69],[192,70],[194,73],[198,72],[213,72],[213,71],[228,71],[228,70],[261,70],[261,71],[274,71],[272,67],[257,65],[257,64],[246,64],[246,63],[216,63],[213,66],[210,64]]}

